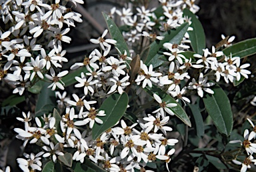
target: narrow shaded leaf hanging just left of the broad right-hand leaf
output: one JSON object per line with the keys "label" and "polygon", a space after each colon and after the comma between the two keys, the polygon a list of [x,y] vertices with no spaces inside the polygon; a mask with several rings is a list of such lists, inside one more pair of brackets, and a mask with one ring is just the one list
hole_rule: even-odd
{"label": "narrow shaded leaf hanging just left of the broad right-hand leaf", "polygon": [[197,136],[203,137],[203,135],[205,134],[205,124],[203,123],[203,117],[201,115],[201,112],[199,111],[197,105],[191,105],[191,104],[188,104],[188,105],[193,114]]}

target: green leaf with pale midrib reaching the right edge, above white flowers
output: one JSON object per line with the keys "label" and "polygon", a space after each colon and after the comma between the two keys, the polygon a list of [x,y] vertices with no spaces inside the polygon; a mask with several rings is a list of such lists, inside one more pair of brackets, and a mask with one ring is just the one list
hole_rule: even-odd
{"label": "green leaf with pale midrib reaching the right edge, above white flowers", "polygon": [[223,53],[227,56],[230,56],[232,53],[232,57],[247,57],[249,55],[253,55],[256,53],[256,38],[246,39],[239,43],[235,43],[230,47],[223,49]]}

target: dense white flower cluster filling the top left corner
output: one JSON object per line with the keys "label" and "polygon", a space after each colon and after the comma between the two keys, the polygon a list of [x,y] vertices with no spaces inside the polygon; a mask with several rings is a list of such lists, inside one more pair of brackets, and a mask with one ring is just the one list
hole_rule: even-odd
{"label": "dense white flower cluster filling the top left corner", "polygon": [[53,90],[64,89],[59,81],[68,71],[55,74],[67,62],[61,44],[70,43],[71,38],[66,36],[69,27],[82,20],[79,13],[60,3],[59,0],[0,1],[0,17],[7,27],[7,31],[0,31],[0,80],[5,78],[17,85],[13,93],[22,95],[25,88],[45,77],[53,82],[49,85]]}

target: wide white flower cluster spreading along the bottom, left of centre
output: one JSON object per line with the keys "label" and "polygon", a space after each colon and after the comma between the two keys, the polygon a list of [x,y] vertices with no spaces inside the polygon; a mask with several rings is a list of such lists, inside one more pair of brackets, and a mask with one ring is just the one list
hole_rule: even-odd
{"label": "wide white flower cluster spreading along the bottom, left of centre", "polygon": [[[24,153],[25,158],[17,159],[23,171],[41,171],[41,157],[51,157],[56,163],[57,156],[64,155],[65,147],[76,149],[73,161],[83,163],[87,157],[108,171],[143,170],[147,163],[154,163],[157,159],[165,161],[166,165],[171,161],[170,155],[175,149],[167,152],[166,148],[174,146],[178,140],[166,138],[167,131],[173,130],[165,126],[169,117],[161,117],[161,113],[157,113],[155,117],[148,114],[143,120],[131,126],[122,119],[115,127],[93,140],[91,131],[86,129],[85,125],[89,123],[89,128],[92,128],[95,122],[102,123],[98,116],[104,116],[105,112],[91,107],[96,101],[86,101],[83,98],[82,100],[77,95],[73,97],[77,100],[76,105],[80,105],[80,109],[85,107],[87,110],[82,110],[81,114],[76,115],[74,107],[67,107],[65,115],[57,124],[61,127],[61,135],[57,133],[56,119],[51,114],[43,115],[42,120],[36,117],[35,127],[31,126],[30,113],[23,113],[23,118],[17,118],[25,124],[25,129],[14,129],[18,133],[17,138],[24,141],[23,146],[27,143],[37,143],[43,149],[37,155]],[[67,103],[74,105],[75,102]]]}

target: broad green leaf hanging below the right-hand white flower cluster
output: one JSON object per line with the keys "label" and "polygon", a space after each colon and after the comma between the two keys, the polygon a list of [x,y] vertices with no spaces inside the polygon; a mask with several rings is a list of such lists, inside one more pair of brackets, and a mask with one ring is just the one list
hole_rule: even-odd
{"label": "broad green leaf hanging below the right-hand white flower cluster", "polygon": [[219,132],[230,135],[233,128],[233,113],[231,111],[229,98],[216,83],[215,87],[211,89],[214,91],[214,94],[211,95],[207,93],[205,97],[203,97],[205,108]]}

